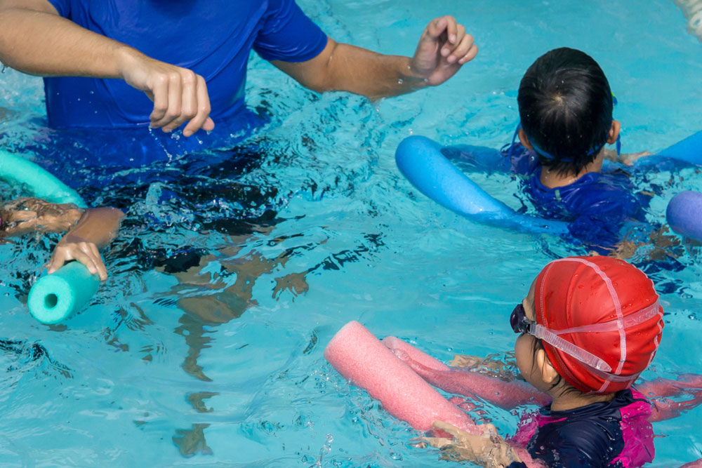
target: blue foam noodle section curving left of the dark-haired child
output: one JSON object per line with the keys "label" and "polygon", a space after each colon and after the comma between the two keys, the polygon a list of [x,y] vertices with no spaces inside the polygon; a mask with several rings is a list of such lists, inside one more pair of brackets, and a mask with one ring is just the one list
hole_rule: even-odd
{"label": "blue foam noodle section curving left of the dark-haired child", "polygon": [[441,152],[441,145],[422,136],[405,138],[397,147],[399,171],[420,192],[445,208],[487,225],[522,232],[567,234],[562,221],[522,215],[494,199]]}

